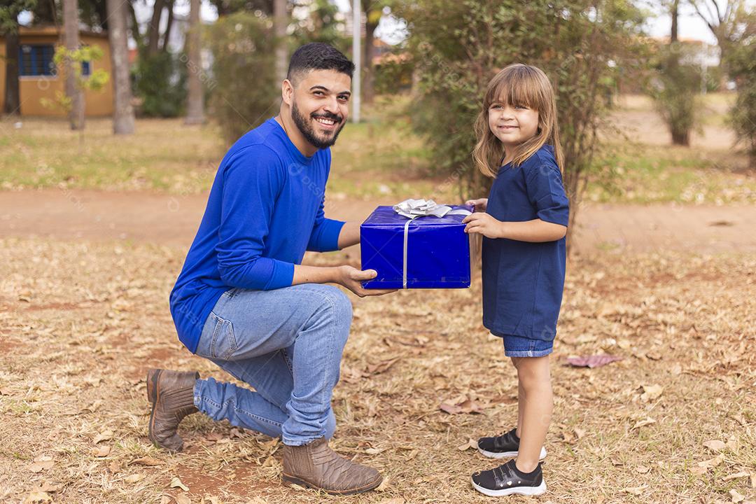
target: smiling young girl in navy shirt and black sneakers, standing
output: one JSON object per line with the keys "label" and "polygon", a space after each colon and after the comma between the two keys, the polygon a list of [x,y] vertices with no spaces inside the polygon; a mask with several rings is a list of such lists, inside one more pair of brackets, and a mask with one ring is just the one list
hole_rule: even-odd
{"label": "smiling young girl in navy shirt and black sneakers, standing", "polygon": [[488,198],[466,202],[467,233],[483,235],[483,325],[503,339],[517,369],[517,426],[480,438],[485,456],[515,457],[472,475],[488,496],[546,491],[539,460],[551,420],[549,357],[565,278],[569,206],[559,167],[556,103],[547,76],[534,66],[501,70],[485,93],[472,153],[494,178]]}

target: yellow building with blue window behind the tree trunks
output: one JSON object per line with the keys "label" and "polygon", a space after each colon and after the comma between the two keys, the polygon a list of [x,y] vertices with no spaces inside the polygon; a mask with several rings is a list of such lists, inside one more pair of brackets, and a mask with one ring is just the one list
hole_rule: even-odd
{"label": "yellow building with blue window behind the tree trunks", "polygon": [[[19,88],[21,115],[65,116],[60,107],[45,107],[42,98],[55,102],[57,91],[65,91],[65,71],[56,68],[52,61],[55,47],[63,44],[63,33],[55,26],[25,27],[19,31],[20,66]],[[82,45],[99,46],[102,57],[97,61],[82,63],[82,75],[89,75],[95,68],[103,69],[112,76],[110,44],[107,33],[79,32]],[[5,39],[0,36],[0,110],[5,104]],[[85,113],[88,117],[113,114],[113,79],[99,91],[85,91]]]}

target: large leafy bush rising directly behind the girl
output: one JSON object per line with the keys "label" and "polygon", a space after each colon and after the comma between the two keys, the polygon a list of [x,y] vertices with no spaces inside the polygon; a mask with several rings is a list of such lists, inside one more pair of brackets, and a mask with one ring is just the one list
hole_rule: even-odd
{"label": "large leafy bush rising directly behind the girl", "polygon": [[464,195],[490,181],[473,167],[472,124],[488,81],[510,63],[540,67],[556,90],[565,187],[574,218],[597,132],[623,70],[644,64],[643,17],[630,0],[405,0],[408,49],[420,75],[412,113],[435,170],[459,178]]}

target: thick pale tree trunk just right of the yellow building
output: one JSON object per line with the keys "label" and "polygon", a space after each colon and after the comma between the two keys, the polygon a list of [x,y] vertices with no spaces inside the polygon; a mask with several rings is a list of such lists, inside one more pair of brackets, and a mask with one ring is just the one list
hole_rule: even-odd
{"label": "thick pale tree trunk just right of the yellow building", "polygon": [[134,133],[132,85],[129,80],[129,46],[126,40],[126,6],[121,0],[107,0],[110,29],[110,60],[113,62],[113,133]]}

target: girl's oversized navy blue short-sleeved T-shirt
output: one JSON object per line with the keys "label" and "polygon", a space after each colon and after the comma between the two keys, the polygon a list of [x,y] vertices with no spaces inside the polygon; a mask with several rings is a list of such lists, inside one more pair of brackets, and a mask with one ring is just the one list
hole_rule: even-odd
{"label": "girl's oversized navy blue short-sleeved T-shirt", "polygon": [[[499,221],[540,218],[566,226],[569,202],[553,148],[503,165],[488,195]],[[565,281],[565,239],[528,243],[483,237],[483,325],[494,335],[553,341]]]}

